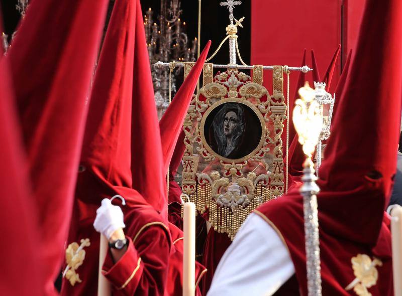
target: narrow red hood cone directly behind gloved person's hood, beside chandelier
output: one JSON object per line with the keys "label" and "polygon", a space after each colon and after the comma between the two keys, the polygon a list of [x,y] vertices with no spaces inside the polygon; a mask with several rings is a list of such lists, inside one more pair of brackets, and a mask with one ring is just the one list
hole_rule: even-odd
{"label": "narrow red hood cone directly behind gloved person's hood, beside chandelier", "polygon": [[166,216],[166,172],[163,170],[159,121],[139,0],[137,3],[131,125],[133,188],[157,211]]}

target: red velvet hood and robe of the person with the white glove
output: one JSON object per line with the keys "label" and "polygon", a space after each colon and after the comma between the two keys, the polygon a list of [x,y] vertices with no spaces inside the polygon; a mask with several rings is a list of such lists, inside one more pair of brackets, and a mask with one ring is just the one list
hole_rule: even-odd
{"label": "red velvet hood and robe of the person with the white glove", "polygon": [[[136,100],[133,100],[133,84],[136,84],[133,80],[135,75],[140,76],[141,66],[145,68],[144,75],[149,70],[148,64],[135,66],[143,57],[141,50],[137,56],[137,47],[145,45],[145,39],[141,39],[144,27],[139,23],[140,18],[139,1],[117,1],[100,53],[68,240],[71,243],[89,238],[91,245],[76,271],[82,282],[71,286],[64,280],[63,295],[96,295],[99,233],[92,224],[100,201],[116,194],[126,200],[127,205],[122,206],[127,226],[124,232],[133,244],[116,264],[110,254],[105,260],[105,275],[117,288],[114,295],[164,294],[171,246],[167,221],[131,187],[131,147],[137,136],[131,124],[133,118],[139,116],[132,114]],[[142,118],[147,117],[146,113],[143,115]],[[114,203],[121,204],[118,200]]]}

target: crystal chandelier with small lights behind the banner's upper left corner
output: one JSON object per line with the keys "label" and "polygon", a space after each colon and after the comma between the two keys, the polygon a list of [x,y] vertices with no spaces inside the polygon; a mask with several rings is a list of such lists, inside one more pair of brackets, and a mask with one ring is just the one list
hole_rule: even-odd
{"label": "crystal chandelier with small lights behind the banner's upper left corner", "polygon": [[[188,38],[185,33],[185,22],[180,20],[182,10],[180,1],[172,0],[167,7],[166,0],[161,0],[161,11],[158,16],[159,24],[154,22],[154,12],[151,8],[146,12],[144,26],[148,45],[148,54],[151,65],[158,62],[186,61],[194,62],[196,59],[197,39],[188,47]],[[169,68],[155,68],[151,66],[152,80],[155,92],[155,103],[158,117],[162,116],[169,105]],[[181,68],[174,72],[178,75]],[[176,91],[176,79],[172,75],[172,95]]]}

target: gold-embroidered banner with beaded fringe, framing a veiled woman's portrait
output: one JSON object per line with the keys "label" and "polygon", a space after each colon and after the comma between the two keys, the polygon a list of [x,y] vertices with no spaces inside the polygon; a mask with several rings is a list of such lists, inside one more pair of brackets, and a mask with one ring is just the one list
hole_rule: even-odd
{"label": "gold-embroidered banner with beaded fringe, framing a veiled woman's portrait", "polygon": [[182,191],[231,239],[251,211],[284,191],[282,72],[274,67],[270,95],[261,65],[251,79],[237,69],[214,76],[207,63],[184,120]]}

